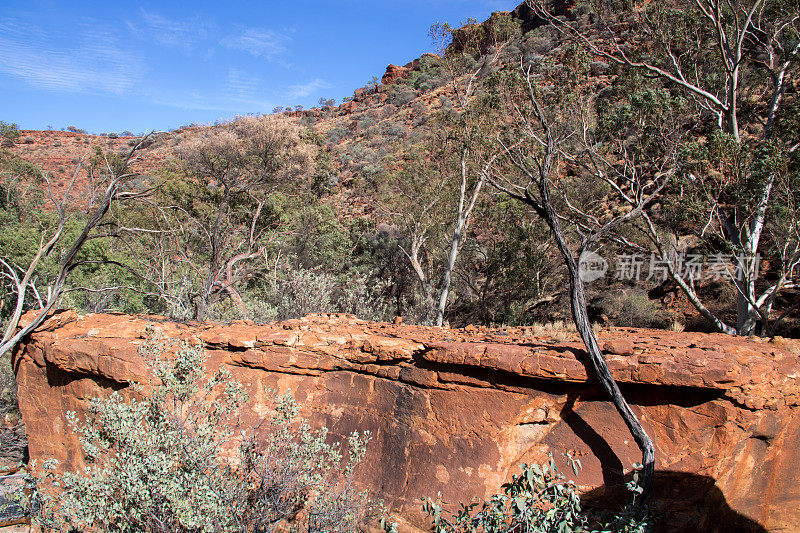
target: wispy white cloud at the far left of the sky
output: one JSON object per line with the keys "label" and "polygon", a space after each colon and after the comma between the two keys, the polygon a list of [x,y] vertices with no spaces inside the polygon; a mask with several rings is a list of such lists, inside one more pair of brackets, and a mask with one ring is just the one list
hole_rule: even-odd
{"label": "wispy white cloud at the far left of the sky", "polygon": [[125,94],[138,84],[144,61],[107,31],[89,28],[69,48],[54,44],[41,28],[0,22],[0,72],[43,89]]}

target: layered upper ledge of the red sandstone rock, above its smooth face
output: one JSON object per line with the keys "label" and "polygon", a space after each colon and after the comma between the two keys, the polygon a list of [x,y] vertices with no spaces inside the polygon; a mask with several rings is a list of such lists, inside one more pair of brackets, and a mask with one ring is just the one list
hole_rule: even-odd
{"label": "layered upper ledge of the red sandstone rock, above its smooth face", "polygon": [[[395,325],[339,314],[266,325],[220,325],[182,324],[154,316],[81,316],[70,310],[54,315],[33,334],[32,344],[42,349],[32,346],[31,354],[40,365],[46,360],[68,372],[128,383],[143,377],[136,350],[149,327],[229,352],[228,363],[272,372],[318,375],[350,370],[441,389],[465,383],[463,372],[455,373],[451,366],[477,371],[466,384],[480,386],[492,386],[485,371],[557,382],[593,381],[584,365],[583,344],[574,333]],[[800,405],[796,340],[636,328],[602,330],[598,337],[621,384],[719,391],[755,410]]]}

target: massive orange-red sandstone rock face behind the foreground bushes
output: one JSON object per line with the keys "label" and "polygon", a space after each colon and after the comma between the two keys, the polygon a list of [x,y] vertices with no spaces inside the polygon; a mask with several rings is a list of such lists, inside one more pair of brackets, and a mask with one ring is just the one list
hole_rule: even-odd
{"label": "massive orange-red sandstone rock face behind the foreground bushes", "polygon": [[[64,414],[145,378],[137,347],[148,325],[204,343],[210,367],[228,366],[250,389],[248,420],[263,412],[267,387],[291,389],[333,437],[370,430],[361,481],[418,527],[427,524],[421,496],[484,496],[549,452],[580,457],[577,481],[593,497],[618,491],[640,459],[569,334],[348,316],[189,326],[72,312],[15,354],[32,458],[75,460]],[[662,530],[800,530],[797,344],[633,329],[601,332],[600,341],[631,354],[607,357],[655,441]]]}

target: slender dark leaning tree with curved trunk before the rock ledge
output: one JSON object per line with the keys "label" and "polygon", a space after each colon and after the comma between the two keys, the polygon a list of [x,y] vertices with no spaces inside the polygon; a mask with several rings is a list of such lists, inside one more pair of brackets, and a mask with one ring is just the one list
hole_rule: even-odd
{"label": "slender dark leaning tree with curved trunk before the rock ledge", "polygon": [[[599,182],[586,181],[579,161],[586,117],[595,94],[587,81],[585,57],[577,48],[553,53],[547,64],[521,59],[516,68],[498,73],[495,84],[499,104],[508,119],[496,134],[500,154],[487,171],[497,190],[530,208],[548,228],[567,270],[573,322],[588,354],[588,362],[623,418],[642,453],[641,498],[652,492],[655,448],[608,368],[587,310],[584,279],[586,258],[608,241],[624,242],[625,228],[642,216],[658,198],[671,172],[653,179],[626,181],[614,174],[598,174]],[[590,154],[591,155],[591,154]],[[615,204],[632,202],[629,209],[608,211],[596,195],[603,190]],[[624,187],[624,189],[623,189]],[[595,196],[595,197],[592,197]]]}

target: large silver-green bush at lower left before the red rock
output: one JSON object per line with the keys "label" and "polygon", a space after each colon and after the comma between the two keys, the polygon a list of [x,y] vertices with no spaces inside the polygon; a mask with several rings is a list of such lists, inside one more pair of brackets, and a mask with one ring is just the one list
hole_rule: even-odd
{"label": "large silver-green bush at lower left before the red rock", "polygon": [[202,348],[155,337],[142,349],[155,380],[71,413],[85,468],[48,461],[32,508],[45,530],[108,532],[355,532],[375,507],[352,483],[369,435],[348,456],[312,430],[286,393],[242,429],[248,401],[221,368],[210,377]]}

